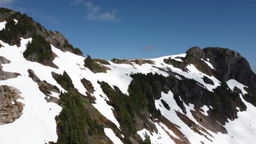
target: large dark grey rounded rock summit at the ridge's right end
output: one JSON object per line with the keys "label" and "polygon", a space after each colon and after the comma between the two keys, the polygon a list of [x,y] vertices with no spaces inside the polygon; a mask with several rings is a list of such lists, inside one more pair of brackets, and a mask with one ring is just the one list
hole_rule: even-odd
{"label": "large dark grey rounded rock summit at the ridge's right end", "polygon": [[220,47],[192,47],[187,55],[196,58],[210,59],[210,63],[216,68],[216,76],[220,81],[235,79],[243,85],[256,88],[256,75],[253,73],[248,61],[238,52]]}

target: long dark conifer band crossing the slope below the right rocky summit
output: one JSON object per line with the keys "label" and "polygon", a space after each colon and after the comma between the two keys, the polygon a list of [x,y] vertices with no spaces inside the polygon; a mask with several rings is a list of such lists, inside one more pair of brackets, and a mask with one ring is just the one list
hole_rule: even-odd
{"label": "long dark conifer band crossing the slope below the right rocky summit", "polygon": [[[152,73],[132,74],[131,77],[133,80],[129,85],[129,97],[133,111],[148,109],[150,114],[156,118],[160,116],[160,112],[156,110],[154,100],[160,99],[161,92],[167,93],[170,90],[183,112],[185,112],[183,101],[187,105],[211,105],[214,113],[220,118],[218,119],[220,122],[226,121],[226,118],[236,118],[236,107],[246,110],[246,105],[239,95],[230,91],[225,82],[214,89],[214,92],[210,92],[191,79],[178,80],[173,76],[164,77]],[[182,98],[182,101],[179,97]]]}

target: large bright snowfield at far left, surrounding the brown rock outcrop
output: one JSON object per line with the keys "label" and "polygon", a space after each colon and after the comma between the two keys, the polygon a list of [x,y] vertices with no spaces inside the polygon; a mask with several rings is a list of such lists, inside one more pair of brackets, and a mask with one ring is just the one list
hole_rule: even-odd
{"label": "large bright snowfield at far left, surrounding the brown rock outcrop", "polygon": [[27,72],[28,69],[32,69],[41,80],[61,88],[50,74],[56,69],[26,61],[23,52],[28,41],[31,39],[21,39],[20,47],[9,46],[0,41],[3,45],[0,48],[0,55],[11,61],[10,64],[2,65],[3,70],[21,74],[15,79],[0,81],[0,85],[19,89],[24,99],[18,99],[18,101],[25,104],[20,118],[13,123],[0,125],[0,143],[3,144],[57,141],[55,116],[59,115],[62,108],[55,103],[46,102],[45,95],[39,91],[37,83],[28,77]]}

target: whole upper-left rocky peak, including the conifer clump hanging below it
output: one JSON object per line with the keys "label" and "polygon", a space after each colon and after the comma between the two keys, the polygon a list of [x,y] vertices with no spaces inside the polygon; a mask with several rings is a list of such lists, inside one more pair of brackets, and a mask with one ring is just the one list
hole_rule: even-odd
{"label": "whole upper-left rocky peak, including the conifer clump hanging below it", "polygon": [[[24,57],[29,61],[54,66],[54,53],[50,44],[62,51],[70,51],[76,55],[83,55],[78,48],[74,48],[59,32],[47,31],[38,22],[26,14],[21,14],[10,9],[0,8],[0,21],[6,21],[5,28],[0,31],[0,39],[10,45],[20,45],[20,38],[32,38],[27,45]],[[18,22],[15,22],[18,21]]]}

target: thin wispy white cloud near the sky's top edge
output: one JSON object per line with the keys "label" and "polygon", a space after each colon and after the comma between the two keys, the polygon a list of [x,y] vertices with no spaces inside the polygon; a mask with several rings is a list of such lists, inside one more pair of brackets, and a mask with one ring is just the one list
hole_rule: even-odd
{"label": "thin wispy white cloud near the sky's top edge", "polygon": [[101,20],[101,21],[120,21],[117,18],[117,10],[112,9],[111,11],[103,11],[100,5],[96,5],[90,1],[73,0],[71,5],[84,5],[87,9],[87,20]]}

